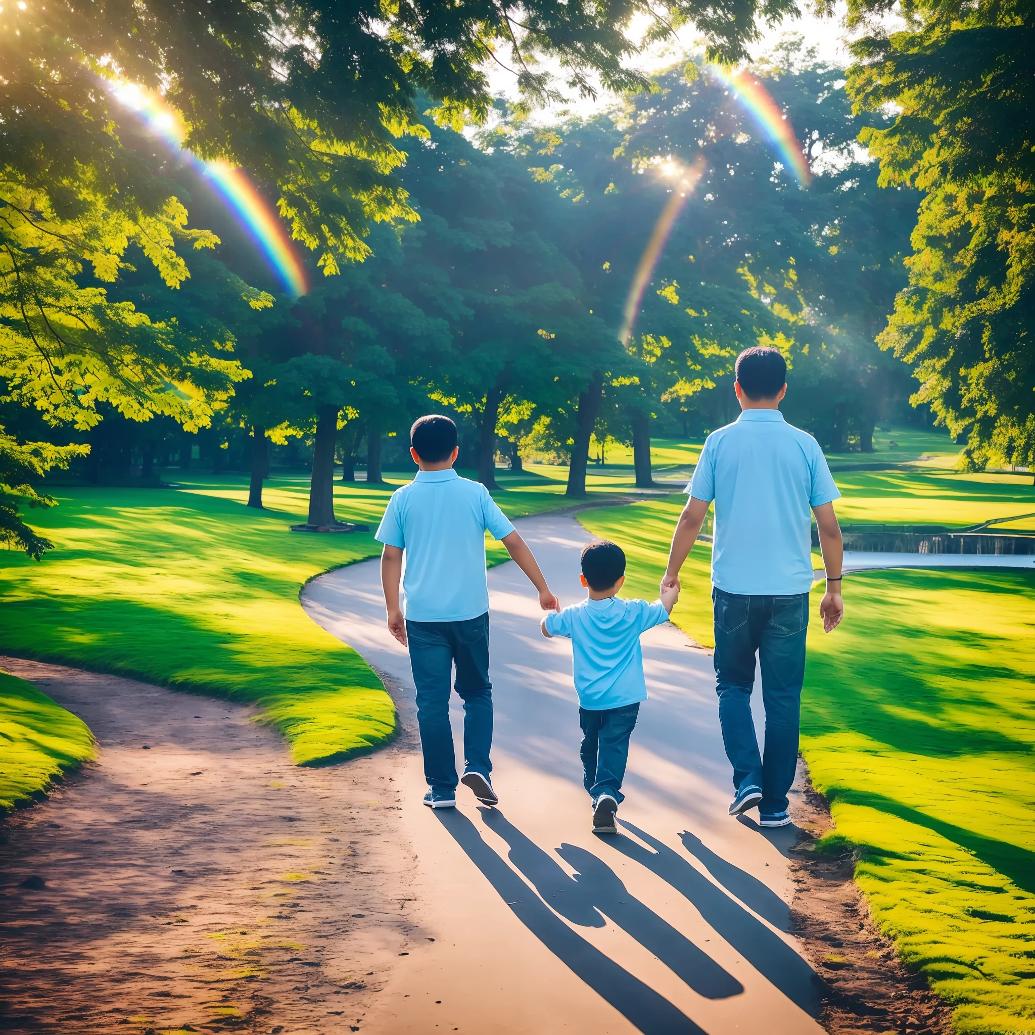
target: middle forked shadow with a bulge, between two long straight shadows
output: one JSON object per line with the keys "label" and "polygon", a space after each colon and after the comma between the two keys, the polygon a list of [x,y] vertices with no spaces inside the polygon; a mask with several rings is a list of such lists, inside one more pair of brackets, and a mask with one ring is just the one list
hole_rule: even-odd
{"label": "middle forked shadow with a bulge, between two long straight shadows", "polygon": [[631,895],[618,875],[592,852],[574,845],[557,850],[578,871],[568,877],[556,859],[499,810],[484,810],[482,822],[510,846],[510,861],[532,882],[542,900],[565,919],[583,927],[602,927],[603,916],[610,917],[706,999],[728,999],[744,990],[711,956]]}

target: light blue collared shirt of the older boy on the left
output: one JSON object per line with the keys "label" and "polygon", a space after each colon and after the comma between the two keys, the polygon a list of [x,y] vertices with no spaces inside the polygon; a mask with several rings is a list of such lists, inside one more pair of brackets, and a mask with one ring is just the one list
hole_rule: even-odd
{"label": "light blue collared shirt of the older boy on the left", "polygon": [[502,539],[513,530],[484,485],[449,468],[418,471],[396,489],[374,537],[406,552],[411,622],[465,622],[489,611],[485,532]]}

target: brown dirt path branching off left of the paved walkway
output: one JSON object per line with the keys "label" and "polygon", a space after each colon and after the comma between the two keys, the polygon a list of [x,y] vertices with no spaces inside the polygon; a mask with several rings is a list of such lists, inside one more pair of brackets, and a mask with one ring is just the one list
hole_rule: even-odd
{"label": "brown dirt path branching off left of the paved walkway", "polygon": [[366,1029],[423,937],[397,811],[407,744],[299,769],[247,708],[0,668],[99,741],[86,772],[0,821],[0,1031]]}

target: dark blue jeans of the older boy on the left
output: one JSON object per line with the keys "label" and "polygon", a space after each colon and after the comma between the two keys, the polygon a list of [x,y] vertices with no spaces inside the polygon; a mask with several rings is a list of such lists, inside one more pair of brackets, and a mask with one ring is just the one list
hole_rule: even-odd
{"label": "dark blue jeans of the older boy on the left", "polygon": [[417,687],[417,726],[424,778],[438,791],[456,789],[456,757],[449,724],[449,683],[464,701],[466,766],[493,771],[493,684],[489,681],[489,613],[466,622],[406,623],[410,666]]}

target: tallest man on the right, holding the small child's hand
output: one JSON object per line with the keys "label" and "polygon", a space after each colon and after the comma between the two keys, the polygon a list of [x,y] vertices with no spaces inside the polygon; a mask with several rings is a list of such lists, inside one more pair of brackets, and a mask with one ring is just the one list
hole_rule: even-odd
{"label": "tallest man on the right, holding the small child's hand", "polygon": [[[730,815],[758,805],[761,826],[782,827],[791,822],[787,793],[798,759],[805,676],[812,585],[809,509],[826,568],[820,615],[830,632],[845,613],[841,535],[833,507],[840,493],[816,439],[787,423],[779,412],[787,394],[782,355],[776,349],[745,349],[736,372],[742,412],[705,442],[661,587],[679,586],[679,569],[714,500],[714,661],[722,741],[736,791]],[[766,712],[764,758],[751,720],[756,653]]]}

